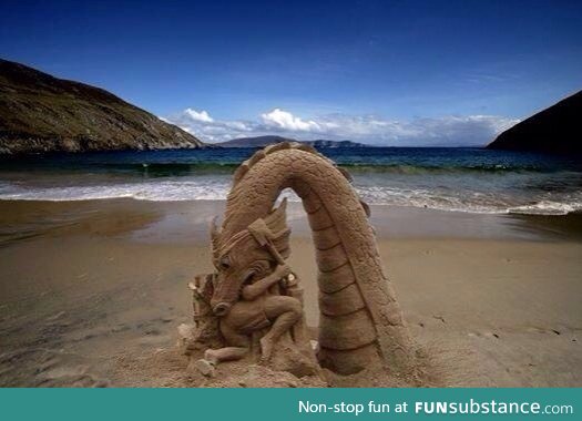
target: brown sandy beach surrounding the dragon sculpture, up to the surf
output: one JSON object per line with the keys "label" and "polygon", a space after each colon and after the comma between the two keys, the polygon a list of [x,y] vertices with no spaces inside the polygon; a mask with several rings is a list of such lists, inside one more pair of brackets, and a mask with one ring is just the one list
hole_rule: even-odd
{"label": "brown sandy beach surrounding the dragon sculpture, up to the surf", "polygon": [[[0,202],[0,386],[204,386],[176,328],[187,281],[212,269],[206,226],[223,207]],[[316,326],[308,228],[298,206],[288,217]],[[371,222],[426,386],[582,386],[580,217],[372,207]]]}

